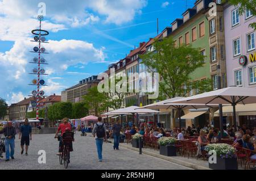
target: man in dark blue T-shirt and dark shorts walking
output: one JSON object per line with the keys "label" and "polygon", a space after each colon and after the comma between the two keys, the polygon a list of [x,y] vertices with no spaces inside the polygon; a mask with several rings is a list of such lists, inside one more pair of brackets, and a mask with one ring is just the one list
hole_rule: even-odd
{"label": "man in dark blue T-shirt and dark shorts walking", "polygon": [[[21,136],[21,139],[20,139]],[[20,140],[20,147],[22,151],[20,154],[23,154],[24,152],[24,144],[26,144],[26,155],[28,146],[30,145],[30,140],[32,140],[32,128],[31,125],[28,124],[28,119],[25,119],[24,124],[20,127],[20,132],[19,132],[19,140]]]}

